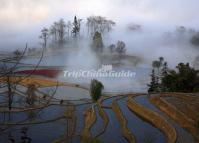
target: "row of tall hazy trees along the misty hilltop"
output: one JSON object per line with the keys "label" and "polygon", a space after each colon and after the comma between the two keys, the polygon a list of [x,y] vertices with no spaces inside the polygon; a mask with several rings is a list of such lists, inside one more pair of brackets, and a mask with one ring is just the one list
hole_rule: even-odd
{"label": "row of tall hazy trees along the misty hilltop", "polygon": [[[90,16],[86,20],[87,36],[93,37],[96,32],[106,34],[110,32],[115,22],[102,16]],[[41,30],[39,38],[43,47],[47,44],[53,46],[63,46],[66,42],[80,37],[80,31],[83,27],[83,19],[74,17],[73,22],[65,22],[63,18],[54,22],[49,28],[44,27]]]}

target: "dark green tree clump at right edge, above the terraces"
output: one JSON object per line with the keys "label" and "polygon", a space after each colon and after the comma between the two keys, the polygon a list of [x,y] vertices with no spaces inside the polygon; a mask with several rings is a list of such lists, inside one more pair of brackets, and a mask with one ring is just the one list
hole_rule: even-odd
{"label": "dark green tree clump at right edge, above the terraces", "polygon": [[[180,63],[177,70],[168,70],[167,62],[163,58],[153,62],[151,83],[148,92],[198,92],[199,71]],[[162,64],[163,63],[163,64]],[[157,71],[155,72],[155,68]],[[160,72],[161,68],[161,72]]]}

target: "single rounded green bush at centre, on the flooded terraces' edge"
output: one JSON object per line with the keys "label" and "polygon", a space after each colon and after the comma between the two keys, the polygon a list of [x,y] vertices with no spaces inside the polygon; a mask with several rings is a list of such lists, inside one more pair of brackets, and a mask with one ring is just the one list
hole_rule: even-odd
{"label": "single rounded green bush at centre, on the flooded terraces' edge", "polygon": [[93,101],[97,101],[102,96],[103,88],[104,86],[100,81],[96,79],[91,80],[90,95]]}

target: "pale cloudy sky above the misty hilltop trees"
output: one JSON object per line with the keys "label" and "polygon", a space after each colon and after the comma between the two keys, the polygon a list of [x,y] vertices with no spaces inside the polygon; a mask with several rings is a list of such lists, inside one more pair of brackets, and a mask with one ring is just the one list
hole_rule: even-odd
{"label": "pale cloudy sky above the misty hilltop trees", "polygon": [[[101,15],[117,25],[199,25],[198,0],[0,0],[0,46],[38,38],[43,26],[60,18]],[[1,49],[2,47],[0,47]]]}

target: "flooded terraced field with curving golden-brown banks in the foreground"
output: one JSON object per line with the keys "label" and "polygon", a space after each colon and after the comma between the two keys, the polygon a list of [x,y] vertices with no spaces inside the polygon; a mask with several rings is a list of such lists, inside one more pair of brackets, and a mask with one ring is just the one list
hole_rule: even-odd
{"label": "flooded terraced field with curving golden-brown banks in the foreground", "polygon": [[[37,100],[34,106],[28,107],[22,102],[26,94],[21,86],[25,88],[30,82],[38,83],[37,97],[40,100]],[[47,96],[46,87],[53,86],[56,89],[56,84],[49,80],[37,82],[37,79],[31,78],[22,81],[21,90],[15,89],[11,110],[6,109],[4,92],[1,92],[0,142],[20,142],[22,139],[33,143],[199,141],[198,95],[164,93],[149,96],[142,93],[105,93],[97,103],[93,103],[88,98],[65,100],[56,94]],[[64,86],[87,90],[75,84],[58,85],[62,86],[62,90]],[[65,93],[67,95],[70,92],[66,89]]]}

